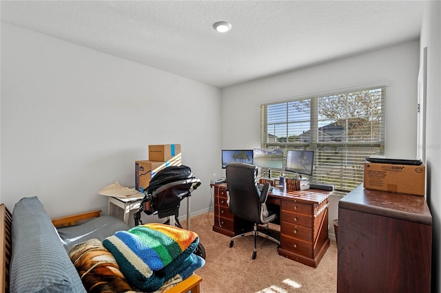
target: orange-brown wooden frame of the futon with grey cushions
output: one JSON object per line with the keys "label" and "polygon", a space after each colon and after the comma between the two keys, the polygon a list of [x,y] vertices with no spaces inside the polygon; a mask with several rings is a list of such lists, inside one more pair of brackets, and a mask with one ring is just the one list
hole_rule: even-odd
{"label": "orange-brown wooden frame of the futon with grey cushions", "polygon": [[[67,217],[59,217],[52,219],[52,224],[56,227],[72,226],[78,221],[90,219],[92,217],[99,217],[101,210],[94,210],[88,213],[81,213],[76,215],[70,215]],[[9,268],[12,252],[12,235],[11,235],[12,215],[8,208],[4,204],[0,204],[0,239],[2,240],[0,245],[0,290],[1,292],[9,292]],[[200,293],[201,292],[201,276],[193,274],[189,278],[185,279],[181,283],[176,284],[167,293]]]}

